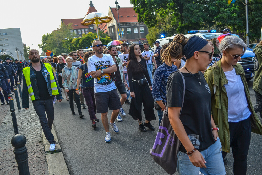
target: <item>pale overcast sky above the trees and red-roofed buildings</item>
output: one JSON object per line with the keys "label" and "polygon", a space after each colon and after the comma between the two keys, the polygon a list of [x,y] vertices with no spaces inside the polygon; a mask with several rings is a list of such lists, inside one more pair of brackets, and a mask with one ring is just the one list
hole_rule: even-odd
{"label": "pale overcast sky above the trees and red-roofed buildings", "polygon": [[[98,12],[108,15],[108,9],[115,6],[115,0],[93,0]],[[84,18],[89,0],[74,1],[1,1],[0,29],[20,28],[23,43],[38,49],[43,34],[51,33],[61,25],[61,19]],[[101,6],[102,5],[102,6]],[[121,7],[133,7],[129,0],[119,0]]]}

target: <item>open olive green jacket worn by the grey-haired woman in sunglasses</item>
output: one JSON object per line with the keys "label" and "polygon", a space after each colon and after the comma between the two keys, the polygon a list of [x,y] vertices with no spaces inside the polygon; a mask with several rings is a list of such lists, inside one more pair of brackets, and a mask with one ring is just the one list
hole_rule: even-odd
{"label": "open olive green jacket worn by the grey-haired woman in sunglasses", "polygon": [[[251,112],[251,131],[262,135],[262,125],[256,115],[248,90],[248,84],[245,80],[244,69],[240,64],[233,66],[235,68],[236,74],[240,75],[241,80],[244,84],[245,94],[247,97],[248,108]],[[211,114],[213,116],[216,126],[219,128],[219,138],[222,145],[222,150],[229,152],[230,150],[230,140],[229,140],[229,126],[227,118],[228,109],[228,98],[225,88],[225,84],[228,83],[225,73],[221,68],[221,59],[210,66],[204,74],[206,82],[208,83],[209,89],[211,91]],[[233,90],[233,89],[232,89]],[[214,92],[215,91],[215,92]],[[236,107],[237,108],[237,107]]]}

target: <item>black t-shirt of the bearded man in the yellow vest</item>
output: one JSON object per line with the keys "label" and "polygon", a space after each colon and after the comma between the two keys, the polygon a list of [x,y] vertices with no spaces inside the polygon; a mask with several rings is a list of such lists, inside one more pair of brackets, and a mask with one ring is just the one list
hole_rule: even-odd
{"label": "black t-shirt of the bearded man in the yellow vest", "polygon": [[[42,71],[35,71],[35,75],[36,75],[36,83],[37,83],[37,88],[38,88],[38,92],[39,92],[39,99],[36,100],[47,100],[52,98],[52,96],[50,96],[48,89],[47,89],[47,83],[45,80],[45,77],[42,74]],[[53,72],[51,72],[53,73]]]}

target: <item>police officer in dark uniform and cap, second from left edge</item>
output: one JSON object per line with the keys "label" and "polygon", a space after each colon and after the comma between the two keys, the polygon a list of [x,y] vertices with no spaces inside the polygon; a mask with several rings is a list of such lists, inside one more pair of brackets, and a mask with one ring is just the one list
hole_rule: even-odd
{"label": "police officer in dark uniform and cap, second from left edge", "polygon": [[[10,94],[12,94],[11,91],[14,92],[14,88],[13,88],[13,86],[15,85],[14,84],[14,76],[16,75],[16,73],[15,73],[15,70],[13,69],[13,66],[10,64],[10,58],[7,57],[6,62],[4,62],[3,65],[6,68],[6,71],[9,75],[9,78],[10,78],[10,83],[8,83],[6,81],[7,91],[8,91],[8,94],[10,95]],[[10,84],[11,84],[11,86],[10,86]]]}

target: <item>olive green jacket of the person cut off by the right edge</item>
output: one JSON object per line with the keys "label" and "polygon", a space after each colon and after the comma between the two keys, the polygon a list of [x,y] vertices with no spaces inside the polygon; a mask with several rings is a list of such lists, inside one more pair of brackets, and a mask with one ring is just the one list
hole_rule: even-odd
{"label": "olive green jacket of the person cut off by the right edge", "polygon": [[258,58],[258,71],[255,71],[255,77],[253,82],[253,89],[262,95],[262,46],[256,46],[253,52]]}

